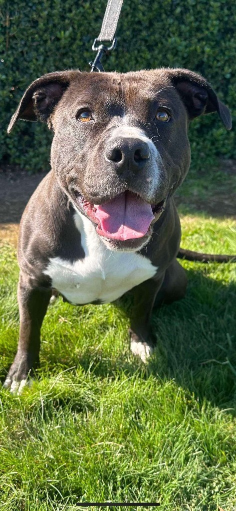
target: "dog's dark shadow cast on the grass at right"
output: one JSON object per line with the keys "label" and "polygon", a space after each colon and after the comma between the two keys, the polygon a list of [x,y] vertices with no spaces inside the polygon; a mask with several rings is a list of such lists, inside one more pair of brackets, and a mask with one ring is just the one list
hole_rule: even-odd
{"label": "dog's dark shadow cast on the grass at right", "polygon": [[[216,267],[217,271],[217,267]],[[204,275],[188,270],[186,297],[168,306],[154,309],[152,330],[156,347],[147,366],[127,353],[113,360],[102,353],[91,361],[89,350],[78,362],[99,377],[117,375],[117,370],[140,378],[155,375],[162,381],[174,379],[177,385],[195,395],[200,402],[235,409],[236,382],[236,283],[224,285]],[[130,301],[119,300],[124,312]],[[102,348],[101,348],[102,350]]]}

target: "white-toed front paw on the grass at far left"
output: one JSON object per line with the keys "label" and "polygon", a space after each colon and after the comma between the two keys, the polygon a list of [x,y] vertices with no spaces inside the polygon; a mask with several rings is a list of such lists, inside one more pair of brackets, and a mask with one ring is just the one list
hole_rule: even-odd
{"label": "white-toed front paw on the grass at far left", "polygon": [[26,386],[31,386],[32,380],[29,378],[33,367],[32,356],[23,351],[18,351],[13,364],[4,383],[4,388],[10,390],[13,394],[21,394]]}

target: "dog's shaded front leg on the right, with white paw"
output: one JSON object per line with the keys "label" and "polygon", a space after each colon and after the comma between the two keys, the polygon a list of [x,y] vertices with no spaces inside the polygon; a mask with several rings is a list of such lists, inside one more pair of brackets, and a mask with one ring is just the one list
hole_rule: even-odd
{"label": "dog's shaded front leg on the right, with white paw", "polygon": [[150,339],[150,317],[156,295],[163,282],[164,273],[157,280],[149,279],[135,287],[134,305],[130,327],[130,349],[146,362],[153,351]]}

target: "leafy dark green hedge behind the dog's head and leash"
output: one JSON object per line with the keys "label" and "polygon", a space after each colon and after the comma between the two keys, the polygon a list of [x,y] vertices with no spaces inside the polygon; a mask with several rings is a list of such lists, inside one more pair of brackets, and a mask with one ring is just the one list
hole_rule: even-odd
{"label": "leafy dark green hedge behind the dog's head and leash", "polygon": [[[1,7],[2,5],[2,7]],[[26,87],[59,69],[89,69],[93,38],[106,0],[0,0],[0,159],[34,172],[48,169],[51,133],[46,125],[19,122],[6,128]],[[124,0],[117,49],[106,71],[182,66],[200,72],[235,115],[236,4],[230,0]],[[199,168],[216,156],[236,157],[233,131],[216,114],[191,128]]]}

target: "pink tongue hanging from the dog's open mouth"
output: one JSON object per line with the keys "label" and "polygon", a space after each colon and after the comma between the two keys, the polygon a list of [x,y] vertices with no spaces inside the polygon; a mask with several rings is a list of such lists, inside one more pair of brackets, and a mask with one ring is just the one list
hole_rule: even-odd
{"label": "pink tongue hanging from the dog's open mouth", "polygon": [[121,241],[145,236],[154,219],[151,205],[132,192],[98,206],[95,216],[101,223],[101,229],[97,227],[99,234]]}

